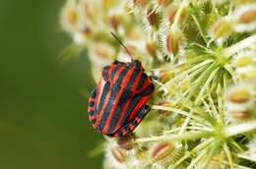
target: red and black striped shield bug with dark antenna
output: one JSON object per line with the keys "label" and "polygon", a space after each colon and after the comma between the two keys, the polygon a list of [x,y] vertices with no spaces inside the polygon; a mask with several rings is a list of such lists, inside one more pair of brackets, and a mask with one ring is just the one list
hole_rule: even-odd
{"label": "red and black striped shield bug with dark antenna", "polygon": [[[118,41],[130,55],[123,43]],[[128,63],[115,61],[103,68],[91,94],[89,119],[94,128],[104,135],[125,137],[149,112],[147,102],[153,91],[152,79],[144,73],[140,61],[132,57]]]}

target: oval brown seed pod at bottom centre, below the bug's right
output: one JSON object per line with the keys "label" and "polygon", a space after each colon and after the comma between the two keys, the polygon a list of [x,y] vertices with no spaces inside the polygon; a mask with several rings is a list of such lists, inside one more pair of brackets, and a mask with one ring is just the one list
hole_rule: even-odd
{"label": "oval brown seed pod at bottom centre, below the bug's right", "polygon": [[152,157],[155,161],[160,161],[170,155],[174,149],[173,144],[170,142],[160,142],[153,150]]}

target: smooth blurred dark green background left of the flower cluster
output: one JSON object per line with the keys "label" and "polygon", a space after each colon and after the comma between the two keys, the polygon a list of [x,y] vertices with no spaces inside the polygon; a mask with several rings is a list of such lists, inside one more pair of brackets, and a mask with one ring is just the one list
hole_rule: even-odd
{"label": "smooth blurred dark green background left of the flower cluster", "polygon": [[85,53],[68,62],[64,0],[0,0],[0,169],[101,168],[87,117],[95,86]]}

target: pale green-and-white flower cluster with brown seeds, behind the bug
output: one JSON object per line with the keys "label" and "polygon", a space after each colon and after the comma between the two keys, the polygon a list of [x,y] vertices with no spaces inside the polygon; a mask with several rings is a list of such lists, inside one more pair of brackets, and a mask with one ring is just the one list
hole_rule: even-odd
{"label": "pale green-and-white flower cluster with brown seeds, behind the bug", "polygon": [[96,81],[128,53],[158,78],[134,135],[105,138],[104,168],[256,166],[254,0],[67,0],[60,21]]}

